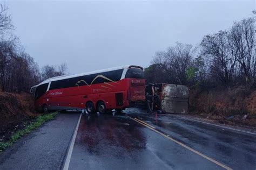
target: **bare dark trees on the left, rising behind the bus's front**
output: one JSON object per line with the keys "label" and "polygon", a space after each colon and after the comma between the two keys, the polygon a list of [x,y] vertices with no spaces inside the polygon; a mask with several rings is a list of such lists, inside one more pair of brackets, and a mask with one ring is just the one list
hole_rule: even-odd
{"label": "bare dark trees on the left, rising behind the bus's front", "polygon": [[0,4],[0,88],[14,93],[29,92],[30,88],[49,77],[64,75],[67,66],[43,66],[25,52],[19,39],[12,33],[15,26],[8,14],[8,6]]}

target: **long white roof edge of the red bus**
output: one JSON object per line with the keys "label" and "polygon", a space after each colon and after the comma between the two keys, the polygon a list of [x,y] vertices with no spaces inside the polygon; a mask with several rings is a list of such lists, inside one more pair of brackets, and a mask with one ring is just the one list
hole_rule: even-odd
{"label": "long white roof edge of the red bus", "polygon": [[[51,81],[70,79],[70,78],[78,77],[78,76],[84,76],[84,75],[90,75],[90,74],[96,74],[96,73],[102,73],[102,72],[110,72],[112,70],[131,68],[131,67],[143,69],[143,67],[136,66],[136,65],[125,65],[125,66],[118,66],[118,67],[100,69],[100,70],[96,70],[96,71],[92,71],[92,72],[86,72],[86,73],[79,73],[79,74],[72,74],[72,75],[61,75],[61,76],[56,76],[56,77],[51,77],[49,79],[46,79],[43,82],[37,84],[36,86],[39,86],[39,85],[44,84],[44,83],[49,83]],[[36,87],[36,86],[33,86],[33,87]]]}

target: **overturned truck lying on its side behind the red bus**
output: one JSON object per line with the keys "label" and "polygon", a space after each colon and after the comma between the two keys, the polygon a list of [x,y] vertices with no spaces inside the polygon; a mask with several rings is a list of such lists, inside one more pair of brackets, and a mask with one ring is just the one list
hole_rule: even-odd
{"label": "overturned truck lying on its side behind the red bus", "polygon": [[145,90],[148,112],[185,114],[188,111],[189,90],[187,86],[150,83],[146,85]]}

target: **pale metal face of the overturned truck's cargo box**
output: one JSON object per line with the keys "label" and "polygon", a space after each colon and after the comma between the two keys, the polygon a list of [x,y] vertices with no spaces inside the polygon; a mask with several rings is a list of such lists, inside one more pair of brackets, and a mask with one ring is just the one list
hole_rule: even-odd
{"label": "pale metal face of the overturned truck's cargo box", "polygon": [[188,111],[188,97],[187,86],[163,83],[161,109],[169,113],[185,114]]}

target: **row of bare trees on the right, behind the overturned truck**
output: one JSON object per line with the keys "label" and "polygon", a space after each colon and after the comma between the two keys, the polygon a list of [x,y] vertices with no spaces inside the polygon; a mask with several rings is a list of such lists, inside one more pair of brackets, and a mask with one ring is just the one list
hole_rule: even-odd
{"label": "row of bare trees on the right, behind the overturned truck", "polygon": [[181,44],[159,51],[145,68],[147,83],[190,87],[256,87],[255,17],[234,22],[225,31],[208,34],[200,45]]}

